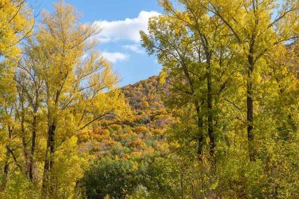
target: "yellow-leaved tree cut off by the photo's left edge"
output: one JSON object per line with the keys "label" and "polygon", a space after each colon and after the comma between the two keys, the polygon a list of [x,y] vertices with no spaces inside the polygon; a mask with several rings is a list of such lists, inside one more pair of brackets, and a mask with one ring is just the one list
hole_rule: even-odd
{"label": "yellow-leaved tree cut off by the photo's left edge", "polygon": [[[10,119],[7,116],[12,113],[14,99],[13,84],[12,84],[12,67],[10,59],[18,59],[20,56],[20,43],[25,37],[31,35],[34,24],[33,9],[27,8],[25,0],[2,0],[0,2],[0,57],[3,58],[0,62],[0,115],[3,133],[8,134],[7,140],[11,139],[13,131],[9,124]],[[9,117],[9,116],[8,116]],[[6,126],[8,124],[8,126]],[[8,131],[8,133],[7,133]],[[1,132],[2,133],[2,132]],[[9,171],[9,147],[6,145],[4,177],[1,180],[0,192],[5,190],[7,184],[7,174]]]}

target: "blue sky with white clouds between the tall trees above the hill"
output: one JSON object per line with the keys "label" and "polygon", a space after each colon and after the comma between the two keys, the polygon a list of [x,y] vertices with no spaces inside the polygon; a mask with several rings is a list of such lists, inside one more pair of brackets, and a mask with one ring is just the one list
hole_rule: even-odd
{"label": "blue sky with white clouds between the tall trees above the hill", "polygon": [[[40,9],[53,11],[55,0],[37,0]],[[162,13],[156,0],[65,0],[83,11],[81,23],[99,23],[100,50],[121,74],[120,86],[158,75],[161,65],[141,46],[139,29],[147,29],[150,16]]]}

